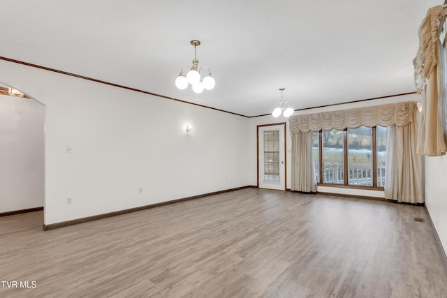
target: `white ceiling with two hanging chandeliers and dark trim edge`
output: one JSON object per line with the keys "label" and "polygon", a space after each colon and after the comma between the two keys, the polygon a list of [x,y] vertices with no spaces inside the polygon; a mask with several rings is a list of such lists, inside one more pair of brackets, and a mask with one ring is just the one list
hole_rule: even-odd
{"label": "white ceiling with two hanging chandeliers and dark trim edge", "polygon": [[[0,56],[251,117],[272,112],[280,87],[295,110],[413,92],[418,27],[439,4],[3,1]],[[216,80],[202,94],[174,83],[193,39]]]}

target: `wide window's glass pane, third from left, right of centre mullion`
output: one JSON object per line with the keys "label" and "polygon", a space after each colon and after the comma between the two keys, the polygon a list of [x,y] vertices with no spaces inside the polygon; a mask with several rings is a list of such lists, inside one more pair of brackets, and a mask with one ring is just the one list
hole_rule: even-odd
{"label": "wide window's glass pane, third from left, right of centre mullion", "polygon": [[349,185],[372,186],[372,128],[348,128]]}

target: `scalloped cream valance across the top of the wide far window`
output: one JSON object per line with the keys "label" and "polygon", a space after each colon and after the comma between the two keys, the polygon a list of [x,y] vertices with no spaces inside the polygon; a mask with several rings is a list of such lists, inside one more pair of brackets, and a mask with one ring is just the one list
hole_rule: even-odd
{"label": "scalloped cream valance across the top of the wide far window", "polygon": [[357,109],[317,114],[297,115],[289,118],[291,133],[342,130],[360,126],[406,126],[413,122],[413,102],[359,107]]}

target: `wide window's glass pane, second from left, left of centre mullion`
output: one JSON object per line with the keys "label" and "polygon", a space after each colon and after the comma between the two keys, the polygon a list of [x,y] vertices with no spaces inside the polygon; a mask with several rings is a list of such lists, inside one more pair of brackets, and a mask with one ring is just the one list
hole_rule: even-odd
{"label": "wide window's glass pane, second from left, left of centre mullion", "polygon": [[343,131],[323,131],[323,183],[344,184]]}

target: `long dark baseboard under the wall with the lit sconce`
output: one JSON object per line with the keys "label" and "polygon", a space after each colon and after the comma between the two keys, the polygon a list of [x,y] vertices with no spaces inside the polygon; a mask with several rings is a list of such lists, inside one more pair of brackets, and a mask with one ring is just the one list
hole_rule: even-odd
{"label": "long dark baseboard under the wall with the lit sconce", "polygon": [[177,199],[177,200],[159,202],[156,204],[149,204],[149,205],[135,207],[135,208],[131,208],[131,209],[124,209],[124,210],[109,212],[109,213],[105,213],[105,214],[98,214],[98,215],[94,215],[94,216],[73,219],[71,221],[62,221],[61,223],[51,223],[50,225],[44,224],[43,230],[44,231],[54,230],[54,229],[58,229],[58,228],[68,227],[69,225],[78,225],[80,223],[87,223],[89,221],[98,221],[99,219],[103,219],[103,218],[118,216],[118,215],[122,215],[122,214],[128,214],[131,212],[142,211],[142,210],[146,210],[146,209],[152,209],[152,208],[156,208],[156,207],[166,206],[169,204],[175,204],[175,203],[189,201],[189,200],[196,200],[196,199],[208,197],[210,195],[219,195],[220,193],[228,193],[230,191],[239,191],[240,189],[244,189],[244,188],[257,188],[257,186],[251,186],[251,185],[250,186],[241,186],[241,187],[237,187],[237,188],[226,189],[223,191],[214,191],[212,193],[204,193],[203,195],[193,195],[191,197],[181,198],[181,199]]}

